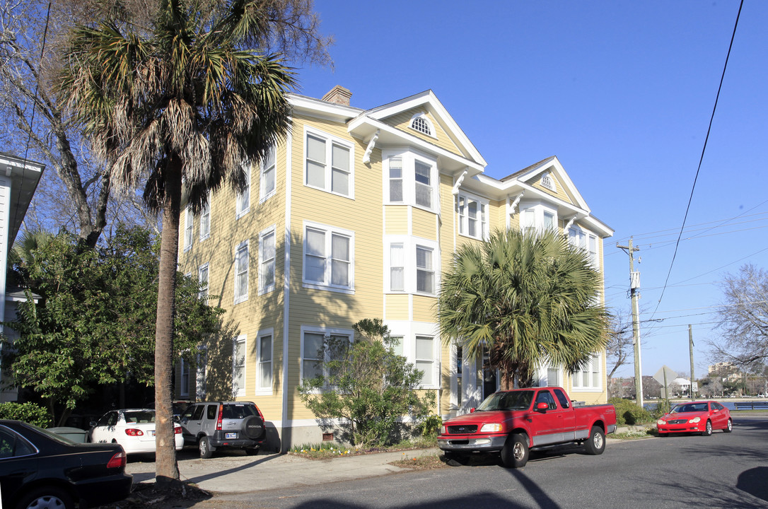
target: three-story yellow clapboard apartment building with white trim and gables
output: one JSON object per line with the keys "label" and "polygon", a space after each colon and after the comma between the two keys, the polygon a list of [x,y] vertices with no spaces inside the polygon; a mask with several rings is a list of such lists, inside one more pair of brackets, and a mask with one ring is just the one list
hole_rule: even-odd
{"label": "three-story yellow clapboard apartment building with white trim and gables", "polygon": [[[290,133],[250,170],[249,189],[223,189],[199,216],[182,214],[179,266],[227,310],[227,333],[177,366],[177,398],[256,402],[275,446],[322,440],[297,386],[316,373],[326,335],[381,318],[435,391],[447,418],[498,388],[497,373],[446,346],[435,322],[442,269],[461,243],[501,228],[558,228],[603,269],[595,218],[557,157],[497,180],[432,91],[370,110],[335,87],[292,94]],[[499,163],[497,163],[499,164]],[[503,164],[503,161],[501,162]],[[605,402],[605,354],[572,375],[538,369],[539,385]],[[279,441],[278,441],[279,440]]]}

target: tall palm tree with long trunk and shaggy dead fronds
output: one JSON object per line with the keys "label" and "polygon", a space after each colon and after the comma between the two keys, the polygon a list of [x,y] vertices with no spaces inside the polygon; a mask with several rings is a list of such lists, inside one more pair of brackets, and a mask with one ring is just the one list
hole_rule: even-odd
{"label": "tall palm tree with long trunk and shaggy dead fronds", "polygon": [[252,162],[289,127],[293,72],[257,51],[260,0],[161,0],[146,32],[107,19],[78,26],[59,90],[108,165],[111,182],[161,213],[155,337],[156,481],[179,478],[170,390],[182,190],[194,213],[223,183],[240,191]]}

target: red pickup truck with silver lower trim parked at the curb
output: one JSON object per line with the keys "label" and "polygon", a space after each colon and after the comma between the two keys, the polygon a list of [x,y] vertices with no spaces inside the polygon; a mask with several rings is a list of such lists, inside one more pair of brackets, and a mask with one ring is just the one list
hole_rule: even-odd
{"label": "red pickup truck with silver lower trim parked at the curb", "polygon": [[575,406],[560,387],[519,388],[485,398],[475,410],[445,421],[437,438],[446,458],[498,452],[507,468],[528,462],[528,451],[577,442],[602,454],[616,431],[614,405]]}

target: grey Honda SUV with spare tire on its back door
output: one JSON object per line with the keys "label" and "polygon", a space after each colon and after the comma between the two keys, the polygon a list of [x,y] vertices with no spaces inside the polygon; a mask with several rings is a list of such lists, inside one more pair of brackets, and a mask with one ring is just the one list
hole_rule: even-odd
{"label": "grey Honda SUV with spare tire on its back door", "polygon": [[200,458],[211,458],[220,448],[245,449],[258,454],[266,440],[261,411],[253,402],[200,402],[181,415],[185,445],[197,445]]}

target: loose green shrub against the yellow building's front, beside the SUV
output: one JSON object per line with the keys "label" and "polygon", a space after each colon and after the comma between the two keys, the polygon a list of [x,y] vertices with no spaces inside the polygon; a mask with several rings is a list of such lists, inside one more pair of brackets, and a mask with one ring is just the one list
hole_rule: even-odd
{"label": "loose green shrub against the yellow building's front, beside the SUV", "polygon": [[419,395],[423,373],[396,355],[395,340],[380,319],[354,325],[356,339],[326,336],[318,352],[319,374],[299,387],[302,402],[320,419],[343,419],[343,439],[355,445],[385,445],[402,417],[415,423],[435,405],[432,391]]}

